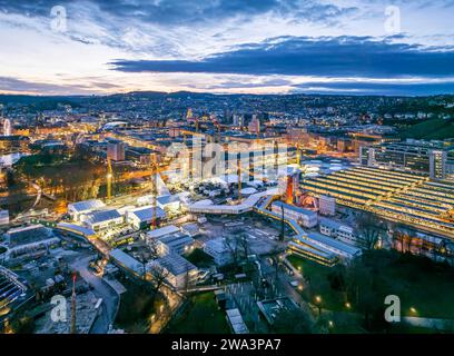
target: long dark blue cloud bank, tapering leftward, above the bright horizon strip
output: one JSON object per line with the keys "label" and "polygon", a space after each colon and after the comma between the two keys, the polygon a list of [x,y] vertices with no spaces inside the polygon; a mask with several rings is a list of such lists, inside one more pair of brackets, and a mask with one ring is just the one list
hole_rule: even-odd
{"label": "long dark blue cloud bank, tapering leftward, above the bright horizon strip", "polygon": [[454,50],[376,41],[368,37],[287,37],[248,44],[199,61],[117,60],[125,72],[190,72],[324,77],[453,76]]}

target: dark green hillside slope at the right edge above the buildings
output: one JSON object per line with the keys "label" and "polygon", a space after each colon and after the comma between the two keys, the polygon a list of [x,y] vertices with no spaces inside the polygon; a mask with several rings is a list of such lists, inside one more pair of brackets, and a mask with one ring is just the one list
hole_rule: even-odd
{"label": "dark green hillside slope at the right edge above the buildings", "polygon": [[403,138],[443,140],[454,138],[454,120],[433,119],[416,123],[401,134]]}

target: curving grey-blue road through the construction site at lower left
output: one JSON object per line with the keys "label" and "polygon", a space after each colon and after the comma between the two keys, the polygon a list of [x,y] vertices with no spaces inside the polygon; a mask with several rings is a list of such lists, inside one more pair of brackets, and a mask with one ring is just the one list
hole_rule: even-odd
{"label": "curving grey-blue road through the construction site at lower left", "polygon": [[117,316],[120,297],[102,278],[95,276],[88,269],[91,259],[92,256],[82,258],[71,264],[71,267],[93,288],[93,294],[98,298],[102,298],[101,313],[95,320],[90,334],[107,334],[109,326],[114,324]]}

